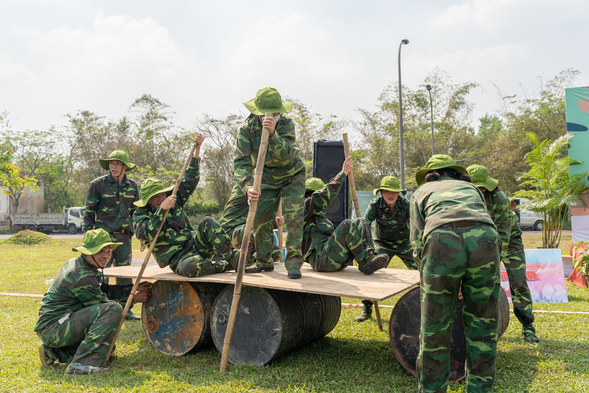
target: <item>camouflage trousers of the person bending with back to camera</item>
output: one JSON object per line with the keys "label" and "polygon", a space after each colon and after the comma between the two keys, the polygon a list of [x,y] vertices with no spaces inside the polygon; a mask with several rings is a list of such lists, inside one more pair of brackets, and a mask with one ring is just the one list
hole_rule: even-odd
{"label": "camouflage trousers of the person bending with back to camera", "polygon": [[487,224],[439,227],[421,251],[421,331],[417,371],[425,393],[448,387],[450,338],[458,291],[464,296],[466,391],[491,392],[495,378],[501,243]]}

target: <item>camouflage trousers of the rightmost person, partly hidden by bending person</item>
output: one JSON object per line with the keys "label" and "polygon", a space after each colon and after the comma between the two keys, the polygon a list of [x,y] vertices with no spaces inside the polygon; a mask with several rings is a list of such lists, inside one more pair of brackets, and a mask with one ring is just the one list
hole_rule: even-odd
{"label": "camouflage trousers of the rightmost person, partly hidden by bending person", "polygon": [[509,239],[507,256],[503,258],[503,264],[509,279],[511,290],[511,301],[514,305],[514,314],[522,324],[522,333],[536,334],[534,328],[534,313],[532,313],[532,295],[528,287],[528,280],[525,274],[525,253],[524,243],[521,235]]}

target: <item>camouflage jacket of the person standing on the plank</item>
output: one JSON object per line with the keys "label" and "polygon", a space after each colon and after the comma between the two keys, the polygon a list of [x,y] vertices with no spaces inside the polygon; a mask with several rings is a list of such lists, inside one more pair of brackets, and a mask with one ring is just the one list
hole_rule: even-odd
{"label": "camouflage jacket of the person standing on the plank", "polygon": [[[254,168],[262,141],[262,117],[250,115],[239,128],[233,167],[235,180],[241,191],[254,185]],[[294,123],[284,114],[276,122],[274,134],[268,139],[268,151],[264,162],[262,189],[281,187],[282,183],[305,170],[299,157],[299,148],[294,142]]]}

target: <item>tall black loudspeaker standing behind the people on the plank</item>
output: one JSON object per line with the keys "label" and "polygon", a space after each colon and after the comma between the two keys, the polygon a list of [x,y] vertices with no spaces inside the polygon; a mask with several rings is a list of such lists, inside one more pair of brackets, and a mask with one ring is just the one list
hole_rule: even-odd
{"label": "tall black loudspeaker standing behind the people on the plank", "polygon": [[[342,171],[343,161],[343,141],[328,141],[320,139],[313,146],[313,177],[319,177],[325,183],[328,183],[336,174]],[[349,198],[348,178],[342,184],[336,199],[323,210],[325,217],[330,220],[334,226],[338,226],[343,220],[348,219],[348,198]]]}

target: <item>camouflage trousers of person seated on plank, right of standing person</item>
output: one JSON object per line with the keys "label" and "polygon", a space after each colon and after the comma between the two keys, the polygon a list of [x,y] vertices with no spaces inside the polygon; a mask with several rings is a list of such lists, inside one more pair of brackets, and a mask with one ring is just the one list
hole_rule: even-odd
{"label": "camouflage trousers of person seated on plank, right of standing person", "polygon": [[364,220],[343,220],[325,242],[316,245],[309,255],[309,265],[316,272],[337,272],[356,260],[362,271],[370,252],[374,251],[370,225]]}

